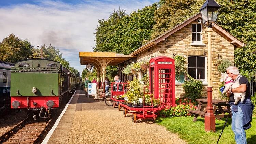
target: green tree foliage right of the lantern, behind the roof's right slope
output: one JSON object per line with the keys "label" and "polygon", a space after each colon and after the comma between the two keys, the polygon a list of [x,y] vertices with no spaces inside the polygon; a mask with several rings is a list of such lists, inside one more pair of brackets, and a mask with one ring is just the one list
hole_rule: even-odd
{"label": "green tree foliage right of the lantern, behind the roof's right slope", "polygon": [[256,71],[256,1],[218,0],[221,5],[217,24],[246,43],[234,50],[234,63],[239,70]]}

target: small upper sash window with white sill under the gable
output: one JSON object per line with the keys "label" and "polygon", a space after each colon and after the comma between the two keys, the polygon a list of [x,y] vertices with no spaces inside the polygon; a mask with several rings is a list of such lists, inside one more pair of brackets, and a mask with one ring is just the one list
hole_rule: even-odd
{"label": "small upper sash window with white sill under the gable", "polygon": [[192,24],[192,43],[191,45],[205,45],[203,44],[203,39],[201,35],[202,25],[201,24]]}

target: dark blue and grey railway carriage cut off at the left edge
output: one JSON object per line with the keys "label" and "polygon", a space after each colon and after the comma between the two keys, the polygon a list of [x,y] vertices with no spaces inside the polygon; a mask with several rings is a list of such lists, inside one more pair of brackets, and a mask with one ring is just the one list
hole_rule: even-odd
{"label": "dark blue and grey railway carriage cut off at the left edge", "polygon": [[0,61],[0,111],[10,107],[11,67],[14,64]]}

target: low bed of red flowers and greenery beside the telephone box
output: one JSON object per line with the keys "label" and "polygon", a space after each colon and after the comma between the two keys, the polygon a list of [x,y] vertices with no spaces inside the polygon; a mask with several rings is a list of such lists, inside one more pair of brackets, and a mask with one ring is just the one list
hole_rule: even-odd
{"label": "low bed of red flowers and greenery beside the telephone box", "polygon": [[162,117],[180,117],[180,116],[190,116],[186,111],[187,109],[196,110],[197,106],[191,102],[181,103],[169,108],[165,108],[159,112]]}

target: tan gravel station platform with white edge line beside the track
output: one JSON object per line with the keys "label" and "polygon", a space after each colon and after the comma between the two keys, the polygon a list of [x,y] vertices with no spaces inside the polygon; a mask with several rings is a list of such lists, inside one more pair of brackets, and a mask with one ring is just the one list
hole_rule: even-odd
{"label": "tan gravel station platform with white edge line beside the track", "polygon": [[130,115],[107,106],[103,101],[87,99],[76,90],[43,144],[112,143],[184,144],[176,134],[152,121],[132,123]]}

